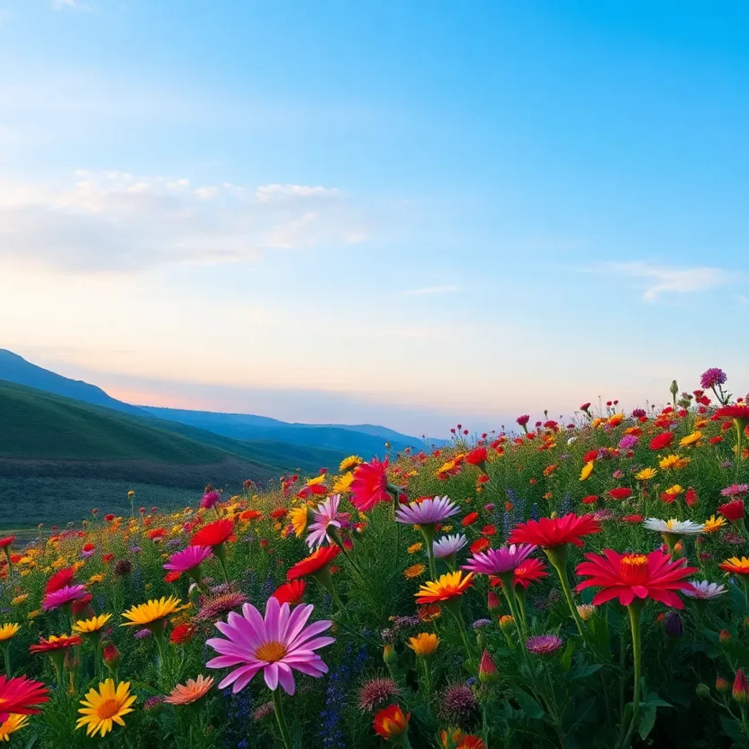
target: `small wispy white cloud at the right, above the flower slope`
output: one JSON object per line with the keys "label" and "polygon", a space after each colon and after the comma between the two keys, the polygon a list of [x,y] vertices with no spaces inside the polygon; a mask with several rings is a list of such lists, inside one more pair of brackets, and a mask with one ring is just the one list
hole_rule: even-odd
{"label": "small wispy white cloud at the right, above the flower slope", "polygon": [[707,291],[716,286],[726,285],[737,277],[736,273],[718,267],[664,267],[644,261],[607,262],[601,264],[598,270],[627,278],[642,279],[646,282],[643,299],[649,302],[658,301],[661,294]]}

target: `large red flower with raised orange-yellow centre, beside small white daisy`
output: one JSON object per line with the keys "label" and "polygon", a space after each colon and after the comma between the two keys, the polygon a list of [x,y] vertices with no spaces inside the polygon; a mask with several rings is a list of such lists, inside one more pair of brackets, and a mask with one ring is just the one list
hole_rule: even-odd
{"label": "large red flower with raised orange-yellow centre, beside small white daisy", "polygon": [[618,554],[613,549],[604,549],[603,554],[586,554],[587,562],[577,565],[577,574],[589,577],[577,586],[583,590],[590,586],[603,588],[592,600],[592,604],[619,598],[622,606],[628,606],[635,598],[652,598],[666,606],[684,608],[676,590],[689,589],[685,580],[697,567],[687,567],[684,557],[672,561],[668,554],[652,551],[650,554]]}

